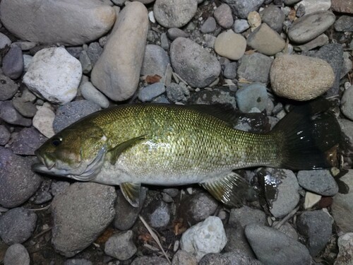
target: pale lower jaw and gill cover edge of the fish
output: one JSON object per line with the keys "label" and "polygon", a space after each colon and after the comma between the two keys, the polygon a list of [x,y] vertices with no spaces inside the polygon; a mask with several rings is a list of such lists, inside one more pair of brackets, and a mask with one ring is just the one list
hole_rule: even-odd
{"label": "pale lower jaw and gill cover edge of the fish", "polygon": [[40,163],[32,164],[32,170],[47,175],[69,177],[80,181],[90,181],[100,172],[106,153],[107,148],[104,145],[90,163],[86,163],[82,160],[77,167],[71,167],[60,160],[52,159],[50,154],[41,154],[39,151],[35,151],[35,155],[37,155]]}

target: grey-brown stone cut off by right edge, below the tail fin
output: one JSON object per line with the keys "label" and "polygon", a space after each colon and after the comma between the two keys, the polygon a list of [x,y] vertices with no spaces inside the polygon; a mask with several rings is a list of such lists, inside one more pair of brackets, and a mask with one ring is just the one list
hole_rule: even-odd
{"label": "grey-brown stone cut off by right edge, below the tail fin", "polygon": [[340,178],[349,187],[347,194],[337,193],[333,197],[332,214],[342,232],[353,232],[353,170]]}

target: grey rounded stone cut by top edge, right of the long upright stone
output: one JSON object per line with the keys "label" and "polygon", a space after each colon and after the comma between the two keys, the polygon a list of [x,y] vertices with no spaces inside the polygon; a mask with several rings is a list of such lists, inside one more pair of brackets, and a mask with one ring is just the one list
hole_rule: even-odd
{"label": "grey rounded stone cut by top edge, right of the long upright stone", "polygon": [[155,20],[165,28],[181,28],[186,25],[198,8],[196,0],[156,0],[153,5]]}

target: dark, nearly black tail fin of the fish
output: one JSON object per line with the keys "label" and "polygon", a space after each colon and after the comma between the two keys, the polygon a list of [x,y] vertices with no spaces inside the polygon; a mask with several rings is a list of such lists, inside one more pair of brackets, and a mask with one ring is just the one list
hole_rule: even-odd
{"label": "dark, nearly black tail fin of the fish", "polygon": [[306,105],[294,107],[271,131],[282,139],[280,167],[310,170],[338,165],[337,148],[340,125],[330,114],[328,100],[318,98]]}

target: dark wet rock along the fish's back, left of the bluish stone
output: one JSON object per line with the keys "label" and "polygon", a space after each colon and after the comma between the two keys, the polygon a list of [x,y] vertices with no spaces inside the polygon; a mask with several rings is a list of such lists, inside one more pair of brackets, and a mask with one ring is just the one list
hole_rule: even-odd
{"label": "dark wet rock along the fish's back, left of the bluish stone", "polygon": [[229,105],[234,109],[237,106],[234,93],[225,88],[213,88],[213,90],[201,90],[193,93],[189,102],[192,104],[205,104],[205,105]]}

